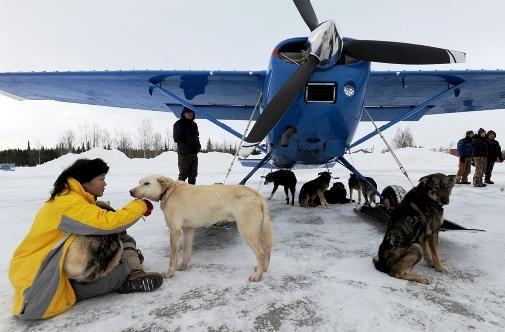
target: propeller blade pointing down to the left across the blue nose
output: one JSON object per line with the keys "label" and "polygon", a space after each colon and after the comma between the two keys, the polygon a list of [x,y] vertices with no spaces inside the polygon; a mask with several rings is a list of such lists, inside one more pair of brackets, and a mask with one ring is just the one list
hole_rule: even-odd
{"label": "propeller blade pointing down to the left across the blue nose", "polygon": [[259,144],[272,130],[275,124],[282,118],[289,109],[300,90],[305,86],[310,75],[316,68],[319,60],[316,56],[309,56],[307,62],[301,65],[298,70],[287,80],[270,100],[263,110],[251,131],[244,139],[244,147]]}

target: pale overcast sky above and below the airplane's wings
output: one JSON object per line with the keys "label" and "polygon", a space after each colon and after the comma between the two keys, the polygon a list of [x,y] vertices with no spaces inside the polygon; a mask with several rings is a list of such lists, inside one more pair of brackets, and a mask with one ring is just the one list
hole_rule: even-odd
{"label": "pale overcast sky above and below the airplane's wings", "polygon": [[[346,4],[347,3],[347,4]],[[292,1],[0,1],[0,72],[116,69],[263,70],[281,40],[309,33]],[[452,67],[374,64],[376,70],[504,69],[505,3],[499,0],[313,0],[320,21],[332,18],[343,36],[391,40],[463,51]],[[66,129],[97,124],[111,132],[135,132],[149,119],[162,135],[169,113],[55,102],[14,101],[0,96],[0,149],[52,146]],[[233,125],[239,131],[244,123]],[[409,123],[416,142],[446,146],[467,129],[505,135],[505,111],[425,117]],[[492,127],[492,128],[491,128]],[[202,140],[231,139],[200,123]],[[359,128],[358,135],[369,126]],[[391,132],[393,133],[394,130]],[[356,137],[357,138],[357,137]],[[373,144],[378,144],[371,142]]]}

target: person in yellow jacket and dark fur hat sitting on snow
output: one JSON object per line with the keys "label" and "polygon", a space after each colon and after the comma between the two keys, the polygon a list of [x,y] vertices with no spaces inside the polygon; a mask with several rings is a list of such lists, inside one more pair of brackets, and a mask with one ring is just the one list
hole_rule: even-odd
{"label": "person in yellow jacket and dark fur hat sitting on snow", "polygon": [[[124,232],[142,215],[149,215],[152,204],[135,199],[117,211],[98,206],[96,198],[103,195],[108,170],[99,158],[79,159],[57,178],[51,197],[38,211],[10,262],[14,315],[21,319],[48,318],[69,309],[76,301],[111,291],[146,292],[161,286],[163,277],[143,271],[143,257],[135,241]],[[107,236],[116,236],[112,234],[117,234],[115,241],[108,240]],[[79,236],[94,236],[102,245],[95,248],[95,257],[86,262],[86,268],[91,262],[98,268],[112,266],[107,260],[113,255],[106,253],[113,254],[124,247],[121,261],[95,278],[69,279],[65,258]],[[122,243],[118,245],[119,238]]]}

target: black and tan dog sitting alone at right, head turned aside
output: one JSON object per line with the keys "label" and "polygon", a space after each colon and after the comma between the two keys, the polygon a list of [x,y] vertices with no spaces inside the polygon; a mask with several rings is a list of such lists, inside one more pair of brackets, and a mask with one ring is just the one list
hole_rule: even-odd
{"label": "black and tan dog sitting alone at right, head turned aside", "polygon": [[375,256],[375,268],[392,277],[424,284],[431,279],[412,274],[412,268],[424,257],[430,267],[447,271],[438,252],[438,232],[444,221],[443,205],[456,180],[455,175],[440,173],[422,177],[419,185],[410,190],[400,205],[391,213],[391,219]]}

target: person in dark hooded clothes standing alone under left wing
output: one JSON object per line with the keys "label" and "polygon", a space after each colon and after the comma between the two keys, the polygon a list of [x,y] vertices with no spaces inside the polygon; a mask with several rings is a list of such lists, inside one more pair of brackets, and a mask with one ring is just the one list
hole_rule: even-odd
{"label": "person in dark hooded clothes standing alone under left wing", "polygon": [[177,143],[179,180],[186,181],[187,178],[189,184],[195,184],[198,175],[199,136],[195,113],[184,107],[181,118],[174,123],[174,141]]}

